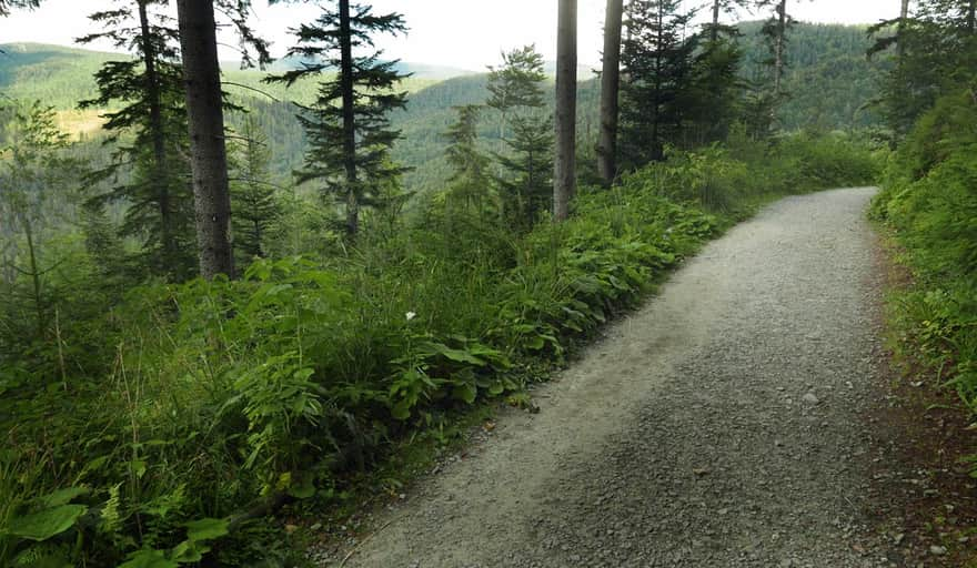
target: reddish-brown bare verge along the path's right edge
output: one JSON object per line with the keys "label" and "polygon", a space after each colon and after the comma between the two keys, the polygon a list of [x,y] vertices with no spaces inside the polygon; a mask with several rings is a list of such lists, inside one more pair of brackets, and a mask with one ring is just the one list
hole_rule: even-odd
{"label": "reddish-brown bare verge along the path's right edge", "polygon": [[[977,566],[977,480],[963,456],[977,452],[970,414],[939,369],[911,344],[904,326],[905,294],[915,282],[905,250],[883,229],[879,288],[886,292],[886,346],[875,412],[866,424],[877,438],[870,494],[879,531],[894,545],[890,560],[939,567]],[[934,550],[939,554],[934,554]]]}

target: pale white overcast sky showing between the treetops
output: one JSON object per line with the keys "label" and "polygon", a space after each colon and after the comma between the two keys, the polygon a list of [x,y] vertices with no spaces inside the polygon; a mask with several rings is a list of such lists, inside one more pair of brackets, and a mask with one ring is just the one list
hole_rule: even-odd
{"label": "pale white overcast sky showing between the treetops", "polygon": [[[580,58],[600,61],[605,0],[580,2]],[[173,2],[175,3],[175,2]],[[556,52],[557,0],[371,0],[380,12],[400,11],[411,32],[384,39],[387,57],[480,70],[495,63],[501,49],[535,43],[547,60]],[[687,1],[687,6],[702,3]],[[281,54],[290,44],[288,29],[315,18],[314,6],[275,6],[254,0],[255,22]],[[34,12],[0,20],[0,43],[38,42],[71,45],[73,39],[97,31],[85,16],[112,6],[111,0],[44,0]],[[789,0],[788,12],[810,22],[874,23],[898,12],[896,0]],[[749,14],[744,14],[749,19]],[[753,18],[758,18],[754,16]],[[110,49],[108,45],[98,45]],[[233,52],[225,53],[228,59]]]}

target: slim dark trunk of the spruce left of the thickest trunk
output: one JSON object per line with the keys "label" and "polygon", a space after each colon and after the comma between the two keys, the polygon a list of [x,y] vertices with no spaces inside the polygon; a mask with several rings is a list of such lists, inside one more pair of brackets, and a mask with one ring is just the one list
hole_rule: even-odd
{"label": "slim dark trunk of the spruce left of the thickest trunk", "polygon": [[157,52],[150,37],[148,0],[139,0],[139,26],[142,32],[142,63],[145,67],[145,94],[149,100],[149,131],[153,146],[153,185],[160,214],[160,246],[164,270],[175,268],[177,243],[173,234],[173,214],[170,210],[170,186],[167,170],[167,134],[163,129],[163,102]]}

